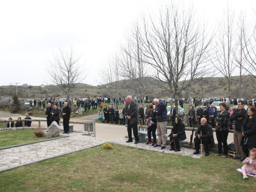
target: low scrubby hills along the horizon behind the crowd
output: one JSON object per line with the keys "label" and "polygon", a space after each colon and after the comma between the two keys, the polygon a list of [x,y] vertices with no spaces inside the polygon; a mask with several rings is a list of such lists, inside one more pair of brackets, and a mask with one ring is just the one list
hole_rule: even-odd
{"label": "low scrubby hills along the horizon behind the crowd", "polygon": [[[252,76],[244,76],[244,82],[242,86],[243,97],[256,98],[256,79]],[[166,89],[160,88],[156,84],[162,84],[160,81],[151,78],[151,81],[156,83],[151,83],[146,95],[150,98],[169,98],[170,94]],[[239,76],[231,77],[231,97],[239,97]],[[118,94],[117,96],[127,96],[131,94],[129,89],[125,89],[123,80],[118,82]],[[166,85],[165,85],[166,86]],[[167,86],[166,86],[167,87]],[[194,80],[193,87],[191,89],[191,97],[208,98],[210,96],[218,97],[228,97],[228,83],[224,77],[211,77],[207,81],[200,82],[198,79]],[[180,94],[180,97],[188,97],[189,89],[186,89]],[[16,93],[16,86],[1,86],[0,96],[12,97]],[[72,94],[72,97],[95,97],[103,96],[108,97],[109,93],[106,89],[106,84],[100,86],[90,86],[89,84],[80,83],[77,86],[77,90]],[[36,98],[44,99],[47,97],[55,98],[66,98],[67,96],[57,87],[57,86],[45,86],[41,88],[40,86],[18,86],[18,97],[19,98]]]}

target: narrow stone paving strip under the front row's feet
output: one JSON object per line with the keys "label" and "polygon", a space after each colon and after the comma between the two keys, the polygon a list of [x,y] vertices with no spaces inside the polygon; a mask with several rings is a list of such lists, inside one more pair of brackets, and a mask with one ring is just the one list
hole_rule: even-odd
{"label": "narrow stone paving strip under the front row's feet", "polygon": [[[151,146],[151,145],[146,145],[145,143],[134,144],[135,140],[131,143],[126,143],[126,141],[127,141],[127,138],[122,138],[122,139],[112,140],[111,142],[121,144],[121,145],[131,146],[131,147],[143,148],[144,150],[151,150],[151,151],[156,151],[156,152],[159,152],[159,153],[163,153],[163,150],[161,150],[161,147],[154,147],[154,146]],[[193,158],[202,157],[201,154],[194,155],[193,152],[195,150],[193,148],[181,147],[180,152],[169,151],[169,149],[170,149],[170,146],[164,151],[164,153],[189,156],[189,157],[193,157]],[[203,152],[203,156],[204,156],[204,154],[205,154],[205,152]]]}

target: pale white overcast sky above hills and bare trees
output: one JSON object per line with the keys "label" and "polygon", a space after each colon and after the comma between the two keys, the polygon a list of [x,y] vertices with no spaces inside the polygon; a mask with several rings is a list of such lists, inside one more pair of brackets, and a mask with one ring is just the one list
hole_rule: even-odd
{"label": "pale white overcast sky above hills and bare trees", "polygon": [[[19,82],[32,86],[50,82],[48,61],[59,47],[81,55],[91,68],[84,83],[97,85],[98,71],[120,45],[125,31],[144,12],[157,12],[166,1],[1,1],[0,86]],[[191,3],[193,1],[186,1]],[[215,26],[228,1],[195,0],[200,17]],[[251,17],[252,0],[230,1],[237,14]],[[200,22],[200,21],[199,21]]]}

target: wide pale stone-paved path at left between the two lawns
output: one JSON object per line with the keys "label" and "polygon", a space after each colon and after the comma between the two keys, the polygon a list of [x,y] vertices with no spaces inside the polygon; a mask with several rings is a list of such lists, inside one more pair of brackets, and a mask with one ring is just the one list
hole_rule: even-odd
{"label": "wide pale stone-paved path at left between the two lawns", "polygon": [[[66,134],[63,135],[66,136]],[[84,136],[81,132],[73,132],[68,135],[69,137],[66,138],[1,150],[0,172],[109,142],[106,139]]]}

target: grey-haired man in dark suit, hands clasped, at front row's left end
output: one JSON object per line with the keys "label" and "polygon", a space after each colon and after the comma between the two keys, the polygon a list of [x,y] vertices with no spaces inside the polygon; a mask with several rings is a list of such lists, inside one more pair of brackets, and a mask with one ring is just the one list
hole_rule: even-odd
{"label": "grey-haired man in dark suit, hands clasped, at front row's left end", "polygon": [[133,134],[135,137],[135,143],[139,143],[139,137],[138,137],[138,129],[137,129],[137,124],[139,120],[139,115],[138,115],[138,107],[137,103],[132,100],[132,96],[127,96],[127,103],[125,104],[125,110],[124,114],[127,118],[127,132],[128,132],[128,141],[133,142],[132,138],[132,129],[133,129]]}

